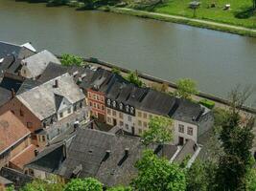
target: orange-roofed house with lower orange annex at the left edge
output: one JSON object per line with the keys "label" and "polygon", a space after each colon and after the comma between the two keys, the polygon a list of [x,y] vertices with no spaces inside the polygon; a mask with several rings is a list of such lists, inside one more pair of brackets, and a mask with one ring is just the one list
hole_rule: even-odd
{"label": "orange-roofed house with lower orange annex at the left edge", "polygon": [[35,157],[35,145],[31,132],[12,112],[0,116],[0,168],[9,166],[23,171],[23,167]]}

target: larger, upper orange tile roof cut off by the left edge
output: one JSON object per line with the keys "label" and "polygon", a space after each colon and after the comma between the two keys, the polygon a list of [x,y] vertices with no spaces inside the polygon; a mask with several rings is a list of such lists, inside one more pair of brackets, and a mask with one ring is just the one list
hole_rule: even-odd
{"label": "larger, upper orange tile roof cut off by the left edge", "polygon": [[0,116],[0,153],[29,134],[29,129],[12,112],[6,112]]}

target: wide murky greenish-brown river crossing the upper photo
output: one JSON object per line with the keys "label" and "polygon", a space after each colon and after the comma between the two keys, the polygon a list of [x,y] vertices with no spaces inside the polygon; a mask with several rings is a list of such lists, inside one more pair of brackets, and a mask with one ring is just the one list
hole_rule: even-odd
{"label": "wide murky greenish-brown river crossing the upper photo", "polygon": [[[101,11],[0,0],[0,40],[93,56],[226,98],[256,84],[256,38]],[[249,105],[255,106],[256,93]]]}

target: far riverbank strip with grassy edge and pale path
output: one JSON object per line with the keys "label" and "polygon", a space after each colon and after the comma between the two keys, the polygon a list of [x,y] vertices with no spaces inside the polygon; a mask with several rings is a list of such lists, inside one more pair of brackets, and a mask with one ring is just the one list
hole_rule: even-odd
{"label": "far riverbank strip with grassy edge and pale path", "polygon": [[185,24],[185,25],[209,29],[209,30],[230,32],[230,33],[240,34],[244,36],[256,37],[256,30],[253,30],[253,29],[248,29],[248,28],[238,27],[238,26],[233,26],[228,24],[222,24],[222,23],[217,23],[212,21],[200,20],[195,18],[188,18],[183,16],[176,16],[176,15],[149,12],[149,11],[138,11],[138,10],[132,10],[128,8],[102,7],[102,8],[99,8],[98,10],[111,11],[115,13],[138,16],[142,18],[150,18],[150,19],[156,19],[160,21]]}

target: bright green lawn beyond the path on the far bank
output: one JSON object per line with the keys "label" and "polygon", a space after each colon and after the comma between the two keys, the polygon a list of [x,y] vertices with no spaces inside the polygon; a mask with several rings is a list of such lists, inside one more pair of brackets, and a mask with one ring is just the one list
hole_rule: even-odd
{"label": "bright green lawn beyond the path on the far bank", "polygon": [[[188,8],[191,1],[168,0],[152,11],[193,17],[193,10]],[[200,3],[196,18],[256,29],[256,11],[251,11],[252,0],[201,0]],[[209,8],[212,3],[216,4],[216,8]],[[223,11],[226,4],[230,4],[229,11]]]}

